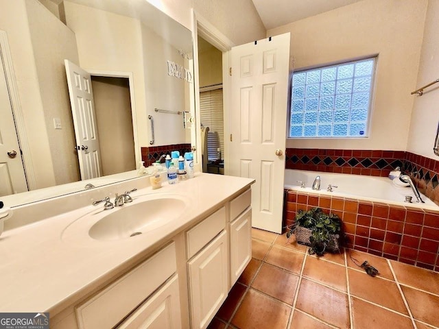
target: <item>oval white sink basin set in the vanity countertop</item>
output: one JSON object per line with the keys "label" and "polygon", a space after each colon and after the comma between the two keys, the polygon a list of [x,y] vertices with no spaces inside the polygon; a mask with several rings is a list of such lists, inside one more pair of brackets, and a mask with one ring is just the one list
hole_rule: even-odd
{"label": "oval white sink basin set in the vanity countertop", "polygon": [[104,216],[90,228],[88,235],[96,240],[127,239],[164,226],[176,219],[185,206],[185,201],[173,197],[134,199],[130,204],[102,212]]}

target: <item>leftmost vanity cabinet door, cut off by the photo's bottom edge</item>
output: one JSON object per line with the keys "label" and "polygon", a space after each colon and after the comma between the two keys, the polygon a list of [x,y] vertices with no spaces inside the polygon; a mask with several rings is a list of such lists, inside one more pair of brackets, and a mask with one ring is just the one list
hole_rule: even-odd
{"label": "leftmost vanity cabinet door, cut off by the photo's bottom edge", "polygon": [[117,329],[180,329],[178,276],[148,298]]}

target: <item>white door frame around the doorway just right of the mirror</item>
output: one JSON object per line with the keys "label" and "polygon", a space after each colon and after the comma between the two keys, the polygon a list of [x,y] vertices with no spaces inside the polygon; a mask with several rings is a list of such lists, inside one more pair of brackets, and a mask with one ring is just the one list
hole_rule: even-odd
{"label": "white door frame around the doorway just right of the mirror", "polygon": [[[235,46],[229,38],[224,36],[219,29],[213,26],[209,21],[207,21],[201,14],[192,10],[193,14],[193,58],[195,60],[195,106],[200,108],[200,80],[198,72],[198,36],[201,36],[204,40],[209,42],[211,45],[215,46],[217,49],[222,51],[222,103],[224,112],[224,174],[228,175],[229,167],[227,165],[228,158],[230,156],[230,74],[229,74],[229,55],[230,49]],[[197,136],[196,140],[201,141],[201,129],[200,125],[200,110],[196,111],[195,119]],[[200,143],[197,143],[200,146]],[[198,163],[201,162],[201,152],[198,152]]]}

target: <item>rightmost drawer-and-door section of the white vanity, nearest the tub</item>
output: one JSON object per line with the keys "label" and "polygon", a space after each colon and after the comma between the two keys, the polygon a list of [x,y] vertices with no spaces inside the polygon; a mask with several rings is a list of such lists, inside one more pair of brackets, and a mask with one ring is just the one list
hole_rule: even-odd
{"label": "rightmost drawer-and-door section of the white vanity, nearest the tub", "polygon": [[252,199],[248,189],[230,202],[230,286],[237,282],[252,259]]}

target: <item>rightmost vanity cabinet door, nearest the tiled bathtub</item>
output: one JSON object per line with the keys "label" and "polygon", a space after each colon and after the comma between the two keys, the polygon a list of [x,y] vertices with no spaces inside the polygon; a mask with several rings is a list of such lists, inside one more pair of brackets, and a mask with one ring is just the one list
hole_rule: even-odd
{"label": "rightmost vanity cabinet door, nearest the tiled bathtub", "polygon": [[230,223],[230,288],[252,258],[252,209]]}

